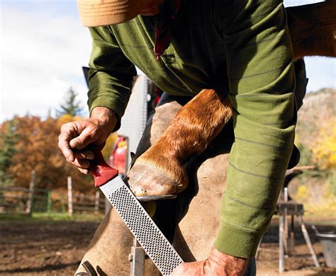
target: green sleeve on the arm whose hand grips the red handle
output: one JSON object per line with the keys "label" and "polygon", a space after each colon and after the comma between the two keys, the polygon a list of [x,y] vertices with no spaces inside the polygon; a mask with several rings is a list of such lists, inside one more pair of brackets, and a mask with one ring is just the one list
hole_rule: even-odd
{"label": "green sleeve on the arm whose hand grips the red handle", "polygon": [[92,52],[89,62],[89,110],[110,108],[120,119],[130,98],[135,66],[125,57],[108,26],[89,28]]}

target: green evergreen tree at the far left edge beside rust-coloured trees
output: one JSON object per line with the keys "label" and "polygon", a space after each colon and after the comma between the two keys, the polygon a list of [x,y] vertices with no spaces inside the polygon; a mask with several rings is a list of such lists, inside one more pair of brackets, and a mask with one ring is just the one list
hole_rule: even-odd
{"label": "green evergreen tree at the far left edge beside rust-coloured trees", "polygon": [[16,142],[18,135],[14,120],[5,122],[1,126],[0,141],[0,183],[6,183],[9,177],[8,169],[13,164],[13,155],[16,153]]}

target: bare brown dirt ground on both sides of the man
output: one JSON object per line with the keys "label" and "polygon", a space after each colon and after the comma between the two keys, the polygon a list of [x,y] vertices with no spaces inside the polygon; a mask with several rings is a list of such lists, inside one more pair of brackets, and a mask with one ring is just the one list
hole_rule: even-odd
{"label": "bare brown dirt ground on both sides of the man", "polygon": [[[0,221],[0,275],[73,275],[97,226],[96,222]],[[331,225],[318,226],[320,231],[332,228]],[[274,224],[264,236],[257,275],[279,275],[277,231]],[[285,259],[286,272],[281,275],[336,275],[336,270],[325,268],[320,243],[309,225],[308,231],[322,268],[314,268],[297,227],[296,255]]]}

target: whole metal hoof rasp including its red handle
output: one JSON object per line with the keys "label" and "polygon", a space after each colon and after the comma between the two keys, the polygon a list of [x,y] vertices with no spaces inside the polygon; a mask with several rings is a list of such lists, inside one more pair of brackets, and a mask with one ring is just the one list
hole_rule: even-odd
{"label": "whole metal hoof rasp including its red handle", "polygon": [[101,152],[95,152],[90,170],[94,183],[121,216],[162,275],[169,275],[183,260],[159,230],[133,192],[123,182],[118,171],[108,166]]}

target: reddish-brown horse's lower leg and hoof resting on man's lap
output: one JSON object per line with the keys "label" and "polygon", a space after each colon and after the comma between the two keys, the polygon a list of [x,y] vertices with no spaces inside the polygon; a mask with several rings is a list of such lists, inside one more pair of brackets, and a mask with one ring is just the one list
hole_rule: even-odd
{"label": "reddish-brown horse's lower leg and hoof resting on man's lap", "polygon": [[204,89],[184,105],[167,130],[136,161],[128,173],[134,194],[169,195],[188,185],[184,163],[200,154],[232,115],[230,100]]}

